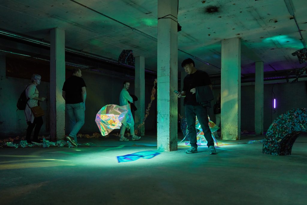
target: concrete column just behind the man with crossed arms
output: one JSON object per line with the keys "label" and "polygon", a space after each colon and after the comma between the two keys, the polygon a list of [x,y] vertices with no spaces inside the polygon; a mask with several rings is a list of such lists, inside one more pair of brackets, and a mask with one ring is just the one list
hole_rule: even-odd
{"label": "concrete column just behind the man with crossed arms", "polygon": [[[134,93],[138,97],[138,101],[135,101],[138,110],[134,112],[135,128],[137,128],[145,117],[145,59],[142,56],[135,57]],[[145,135],[145,125],[140,127],[140,135]]]}

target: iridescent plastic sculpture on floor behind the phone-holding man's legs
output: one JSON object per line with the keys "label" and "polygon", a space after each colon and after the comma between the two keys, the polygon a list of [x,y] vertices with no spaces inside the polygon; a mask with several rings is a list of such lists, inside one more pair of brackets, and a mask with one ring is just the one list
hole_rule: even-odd
{"label": "iridescent plastic sculpture on floor behind the phone-holding man's legs", "polygon": [[[209,124],[209,128],[210,128],[210,131],[211,131],[211,136],[213,138],[214,144],[218,145],[217,140],[216,140],[213,132],[216,132],[218,129],[220,129],[220,127],[217,126],[210,119],[209,119],[209,123],[208,124]],[[204,137],[204,132],[203,132],[203,129],[201,128],[201,126],[200,126],[200,123],[198,122],[197,116],[196,116],[195,127],[198,130],[198,132],[196,134],[196,139],[197,139],[196,144],[198,146],[200,146],[200,145],[207,145],[207,140]],[[183,136],[184,136],[183,140],[185,140],[185,145],[189,145],[190,144],[190,139],[189,139],[189,136],[188,136],[188,129],[187,129],[187,121],[186,121],[186,119],[182,120],[182,122],[181,122],[181,132],[183,133]]]}

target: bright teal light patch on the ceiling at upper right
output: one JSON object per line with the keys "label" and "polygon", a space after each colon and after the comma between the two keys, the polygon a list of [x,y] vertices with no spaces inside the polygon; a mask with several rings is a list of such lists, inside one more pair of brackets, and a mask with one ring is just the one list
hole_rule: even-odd
{"label": "bright teal light patch on the ceiling at upper right", "polygon": [[300,40],[289,37],[287,35],[278,35],[262,40],[263,43],[277,45],[282,48],[302,49],[303,44]]}

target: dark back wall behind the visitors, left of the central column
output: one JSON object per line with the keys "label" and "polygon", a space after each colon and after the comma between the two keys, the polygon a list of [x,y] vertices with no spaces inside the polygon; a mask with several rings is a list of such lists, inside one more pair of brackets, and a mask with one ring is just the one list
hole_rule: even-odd
{"label": "dark back wall behind the visitors, left of the central column", "polygon": [[[1,107],[0,112],[0,136],[5,135],[25,135],[27,124],[23,111],[16,111],[16,103],[19,95],[25,89],[25,86],[30,83],[28,79],[15,77],[6,77],[5,75],[5,57],[0,55],[0,97]],[[96,113],[106,104],[119,104],[119,93],[122,90],[123,81],[130,81],[129,92],[134,94],[134,80],[112,77],[110,75],[102,75],[97,72],[82,71],[82,78],[87,85],[87,99],[85,110],[85,123],[80,132],[99,132],[95,123]],[[145,108],[150,102],[151,88],[153,86],[150,81],[146,82],[145,87]],[[37,87],[41,96],[49,98],[49,82],[41,82]],[[157,95],[157,94],[156,94]],[[44,124],[40,134],[49,134],[49,101],[41,103],[42,108],[46,111],[43,116]],[[153,101],[150,109],[150,115],[146,120],[145,129],[156,129],[156,100]],[[66,124],[67,120],[66,120]]]}

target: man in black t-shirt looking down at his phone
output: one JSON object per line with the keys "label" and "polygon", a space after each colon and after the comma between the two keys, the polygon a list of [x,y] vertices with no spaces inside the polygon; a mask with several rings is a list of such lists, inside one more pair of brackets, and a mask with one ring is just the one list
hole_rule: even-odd
{"label": "man in black t-shirt looking down at his phone", "polygon": [[[207,146],[209,148],[210,154],[216,154],[214,148],[214,141],[211,136],[211,131],[209,128],[209,120],[207,107],[211,107],[210,101],[200,104],[196,100],[196,94],[200,96],[202,93],[196,93],[201,90],[203,86],[210,86],[212,89],[211,81],[208,74],[204,71],[196,70],[195,63],[191,58],[185,59],[181,66],[185,69],[188,75],[183,80],[183,91],[181,94],[177,94],[178,97],[185,97],[185,117],[187,119],[188,135],[190,137],[191,148],[185,153],[191,154],[197,152],[197,139],[196,139],[196,116],[200,126],[204,132],[204,137],[207,140]],[[197,89],[196,89],[197,88]],[[210,90],[210,89],[209,89]],[[211,90],[210,90],[211,91]]]}

